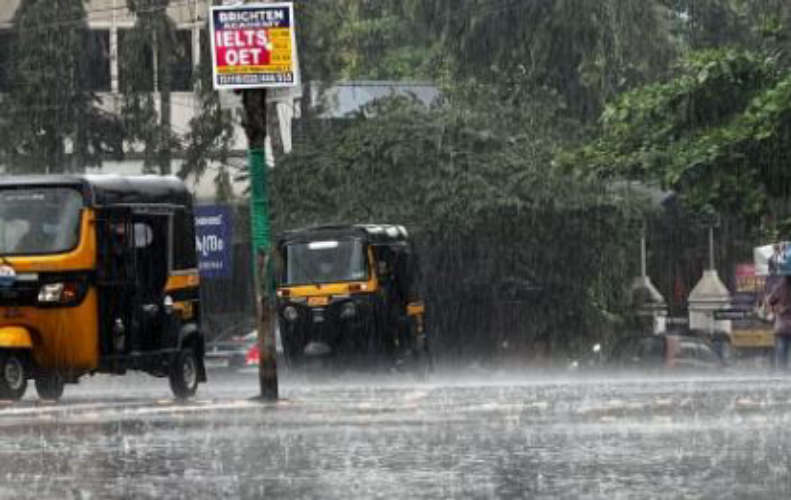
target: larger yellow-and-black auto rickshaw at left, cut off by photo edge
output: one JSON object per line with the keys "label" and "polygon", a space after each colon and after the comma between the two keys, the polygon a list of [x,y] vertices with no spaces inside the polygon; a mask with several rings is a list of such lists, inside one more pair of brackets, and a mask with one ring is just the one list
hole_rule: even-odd
{"label": "larger yellow-and-black auto rickshaw at left, cut off by photo edge", "polygon": [[85,374],[206,380],[192,198],[175,177],[0,178],[0,398]]}

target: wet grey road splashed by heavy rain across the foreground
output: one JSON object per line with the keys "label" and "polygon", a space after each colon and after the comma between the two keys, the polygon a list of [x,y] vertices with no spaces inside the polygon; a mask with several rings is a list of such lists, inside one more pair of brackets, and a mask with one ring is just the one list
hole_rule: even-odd
{"label": "wet grey road splashed by heavy rain across the foreground", "polygon": [[0,404],[2,498],[789,498],[791,379],[146,376]]}

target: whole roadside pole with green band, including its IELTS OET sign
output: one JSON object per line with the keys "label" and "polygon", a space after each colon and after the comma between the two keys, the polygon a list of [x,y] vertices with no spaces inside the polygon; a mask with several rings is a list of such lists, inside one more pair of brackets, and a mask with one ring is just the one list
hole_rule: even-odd
{"label": "whole roadside pole with green band, including its IELTS OET sign", "polygon": [[274,298],[269,269],[268,167],[266,165],[266,89],[299,84],[291,3],[261,3],[211,8],[212,82],[216,90],[241,91],[242,125],[247,134],[250,173],[255,313],[258,328],[258,379],[263,400],[278,398]]}

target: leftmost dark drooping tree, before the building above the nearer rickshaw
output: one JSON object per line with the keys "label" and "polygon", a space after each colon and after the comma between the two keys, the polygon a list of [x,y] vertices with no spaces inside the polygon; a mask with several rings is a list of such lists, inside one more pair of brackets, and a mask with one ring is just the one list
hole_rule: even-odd
{"label": "leftmost dark drooping tree, before the building above the nearer rickshaw", "polygon": [[12,20],[0,150],[11,173],[78,172],[120,156],[123,129],[90,89],[81,0],[23,0]]}

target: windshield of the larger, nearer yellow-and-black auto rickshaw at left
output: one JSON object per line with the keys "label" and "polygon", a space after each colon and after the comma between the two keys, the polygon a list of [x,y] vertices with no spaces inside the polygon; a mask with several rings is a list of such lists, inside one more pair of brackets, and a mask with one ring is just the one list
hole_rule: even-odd
{"label": "windshield of the larger, nearer yellow-and-black auto rickshaw at left", "polygon": [[82,195],[71,188],[0,190],[0,255],[66,252],[80,236]]}

